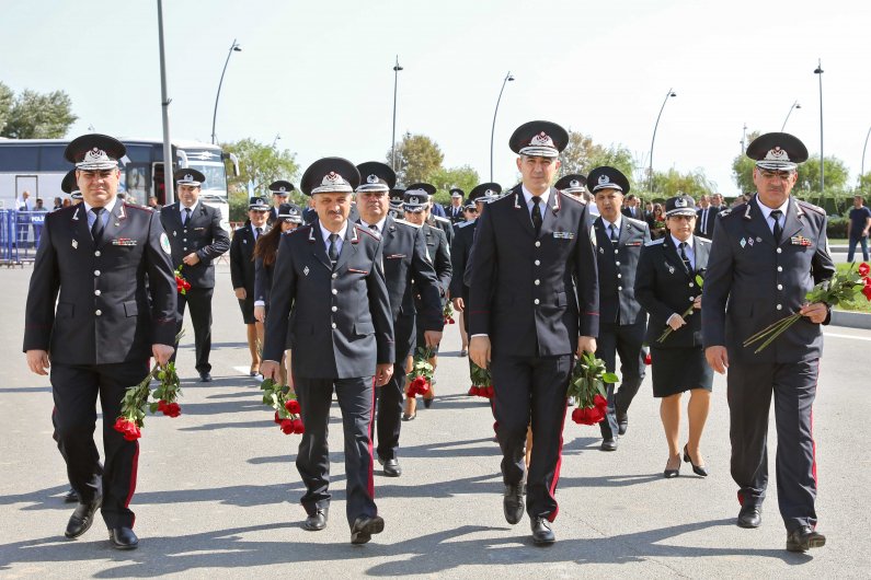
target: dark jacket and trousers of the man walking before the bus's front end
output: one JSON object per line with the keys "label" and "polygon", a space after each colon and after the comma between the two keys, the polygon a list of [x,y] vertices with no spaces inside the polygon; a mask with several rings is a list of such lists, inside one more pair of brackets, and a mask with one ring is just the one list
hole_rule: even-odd
{"label": "dark jacket and trousers of the man walking before the bus's front end", "polygon": [[[183,221],[181,202],[164,206],[160,210],[160,222],[172,246],[172,265],[182,266],[182,276],[191,289],[179,294],[179,330],[184,324],[185,304],[191,305],[191,324],[194,326],[197,372],[211,372],[208,358],[211,352],[211,294],[215,292],[215,264],[230,248],[230,236],[221,228],[220,211],[200,200],[191,212],[191,220]],[[196,252],[199,263],[184,266],[184,256]],[[175,360],[177,352],[173,352]]]}

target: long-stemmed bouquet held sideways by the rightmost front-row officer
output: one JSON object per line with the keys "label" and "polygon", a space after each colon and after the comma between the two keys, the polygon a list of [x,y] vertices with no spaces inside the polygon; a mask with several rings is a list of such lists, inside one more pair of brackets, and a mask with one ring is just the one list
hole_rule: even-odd
{"label": "long-stemmed bouquet held sideways by the rightmost front-row officer", "polygon": [[[828,280],[823,280],[814,286],[810,292],[804,294],[805,300],[809,303],[824,302],[829,306],[837,306],[841,302],[850,302],[858,298],[859,294],[862,294],[871,301],[871,278],[869,278],[871,267],[862,263],[857,270],[853,266],[855,264],[851,264],[850,269],[847,271],[836,271]],[[754,355],[758,355],[765,347],[773,343],[778,336],[786,333],[790,326],[799,322],[801,317],[802,315],[798,312],[784,316],[744,340],[744,346],[748,347],[761,343],[753,351]]]}

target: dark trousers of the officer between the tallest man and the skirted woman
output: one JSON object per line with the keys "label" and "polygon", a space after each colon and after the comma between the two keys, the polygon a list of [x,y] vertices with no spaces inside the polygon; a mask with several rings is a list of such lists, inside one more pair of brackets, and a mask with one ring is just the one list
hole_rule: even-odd
{"label": "dark trousers of the officer between the tallest man and the skirted woman", "polygon": [[599,325],[596,357],[605,361],[608,372],[615,372],[616,356],[620,355],[620,388],[615,392],[615,384],[607,385],[608,413],[606,420],[599,422],[601,437],[605,439],[610,439],[617,433],[617,414],[629,410],[644,380],[644,356],[641,353],[641,347],[644,344],[645,329],[645,322]]}

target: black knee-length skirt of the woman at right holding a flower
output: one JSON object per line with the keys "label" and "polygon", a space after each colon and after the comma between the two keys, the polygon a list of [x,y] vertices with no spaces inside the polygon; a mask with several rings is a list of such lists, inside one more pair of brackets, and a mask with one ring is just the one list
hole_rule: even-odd
{"label": "black knee-length skirt of the woman at right holding a flower", "polygon": [[701,347],[651,347],[650,358],[654,397],[667,397],[692,388],[711,391],[713,371],[704,360]]}

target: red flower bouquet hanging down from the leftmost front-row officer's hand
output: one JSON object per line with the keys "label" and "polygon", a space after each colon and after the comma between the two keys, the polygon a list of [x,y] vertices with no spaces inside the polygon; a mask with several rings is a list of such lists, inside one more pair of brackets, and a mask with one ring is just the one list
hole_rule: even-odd
{"label": "red flower bouquet hanging down from the leftmost front-row officer's hand", "polygon": [[[184,330],[175,336],[175,345],[184,336]],[[151,380],[160,381],[158,387],[151,391]],[[142,437],[141,428],[145,426],[146,405],[154,413],[162,413],[167,417],[177,417],[182,407],[177,399],[182,394],[181,381],[175,372],[175,363],[168,362],[164,367],[154,363],[151,372],[139,384],[130,386],[124,393],[121,402],[121,415],[115,419],[114,428],[124,434],[127,441],[136,441]],[[149,398],[151,402],[149,403]]]}

